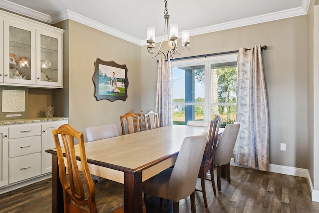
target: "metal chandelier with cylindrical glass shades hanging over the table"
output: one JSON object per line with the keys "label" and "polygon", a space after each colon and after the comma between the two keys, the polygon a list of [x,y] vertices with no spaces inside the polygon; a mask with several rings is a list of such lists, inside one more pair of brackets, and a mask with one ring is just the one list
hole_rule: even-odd
{"label": "metal chandelier with cylindrical glass shades hanging over the table", "polygon": [[[165,9],[164,9],[164,19],[165,19],[165,26],[164,26],[164,32],[163,32],[163,40],[160,43],[160,47],[158,50],[155,50],[155,28],[154,27],[148,27],[147,28],[147,49],[148,49],[148,54],[150,57],[154,58],[160,54],[165,56],[166,60],[174,58],[176,55],[186,55],[189,53],[189,30],[183,30],[182,31],[182,47],[183,47],[183,52],[180,53],[178,52],[177,48],[177,40],[178,40],[178,25],[177,24],[170,24],[169,25],[169,14],[168,14],[168,9],[167,9],[167,0],[164,0],[165,2]],[[167,27],[167,42],[168,42],[168,51],[167,54],[165,54],[162,50],[161,47],[164,42],[164,35],[166,32],[166,27]]]}

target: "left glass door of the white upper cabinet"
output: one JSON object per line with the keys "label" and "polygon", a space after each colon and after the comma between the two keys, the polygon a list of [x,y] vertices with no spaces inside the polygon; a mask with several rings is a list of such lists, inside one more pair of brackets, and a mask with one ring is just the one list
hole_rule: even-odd
{"label": "left glass door of the white upper cabinet", "polygon": [[35,29],[4,21],[4,82],[35,84]]}

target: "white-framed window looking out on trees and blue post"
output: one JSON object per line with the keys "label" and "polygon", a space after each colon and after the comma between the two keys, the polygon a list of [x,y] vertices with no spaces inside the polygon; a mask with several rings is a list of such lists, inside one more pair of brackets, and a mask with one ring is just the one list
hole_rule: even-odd
{"label": "white-framed window looking out on trees and blue post", "polygon": [[173,61],[173,123],[234,123],[237,101],[237,54]]}

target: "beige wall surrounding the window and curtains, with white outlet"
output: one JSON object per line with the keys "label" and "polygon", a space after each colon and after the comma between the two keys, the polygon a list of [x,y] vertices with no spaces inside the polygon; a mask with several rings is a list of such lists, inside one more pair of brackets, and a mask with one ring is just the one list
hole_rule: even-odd
{"label": "beige wall surrounding the window and curtains, with white outlet", "polygon": [[[308,168],[307,16],[193,36],[191,55],[237,50],[263,51],[270,115],[270,163]],[[155,109],[157,59],[141,47],[141,106]],[[286,143],[286,151],[280,151]]]}

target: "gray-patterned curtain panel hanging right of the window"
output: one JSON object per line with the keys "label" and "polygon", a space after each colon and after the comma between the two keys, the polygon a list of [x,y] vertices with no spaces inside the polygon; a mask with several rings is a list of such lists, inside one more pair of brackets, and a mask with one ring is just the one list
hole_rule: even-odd
{"label": "gray-patterned curtain panel hanging right of the window", "polygon": [[238,52],[236,121],[240,129],[235,162],[266,171],[269,168],[269,119],[261,46]]}

